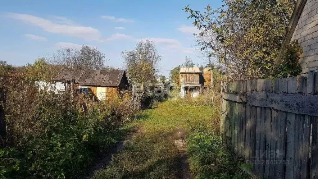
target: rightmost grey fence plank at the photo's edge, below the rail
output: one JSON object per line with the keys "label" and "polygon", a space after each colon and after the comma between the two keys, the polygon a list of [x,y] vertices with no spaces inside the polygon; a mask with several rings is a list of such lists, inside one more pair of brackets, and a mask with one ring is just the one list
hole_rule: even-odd
{"label": "rightmost grey fence plank at the photo's edge, below the rail", "polygon": [[311,170],[310,179],[318,178],[318,117],[312,118],[312,141],[311,141]]}

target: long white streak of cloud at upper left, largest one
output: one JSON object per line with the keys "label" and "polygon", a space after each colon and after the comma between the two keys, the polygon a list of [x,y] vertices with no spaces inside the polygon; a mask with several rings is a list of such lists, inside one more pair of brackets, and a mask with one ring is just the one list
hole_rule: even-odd
{"label": "long white streak of cloud at upper left, largest one", "polygon": [[36,16],[31,16],[27,14],[17,14],[9,13],[7,15],[9,18],[14,18],[23,21],[24,23],[36,25],[43,28],[47,32],[56,34],[65,34],[73,37],[80,37],[85,40],[99,40],[101,39],[101,34],[97,29],[92,27],[77,26],[77,25],[61,25],[54,23],[50,20],[44,18],[39,18]]}

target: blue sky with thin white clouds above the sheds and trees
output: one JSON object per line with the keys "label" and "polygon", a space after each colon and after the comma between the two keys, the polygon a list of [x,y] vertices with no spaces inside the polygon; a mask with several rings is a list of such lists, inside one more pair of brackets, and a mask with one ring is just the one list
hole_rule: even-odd
{"label": "blue sky with thin white clouds above the sheds and trees", "polygon": [[[195,48],[193,32],[182,8],[219,7],[221,0],[24,0],[2,1],[0,6],[0,60],[14,65],[33,63],[60,46],[97,47],[106,65],[122,68],[121,51],[134,49],[139,39],[151,39],[163,54],[161,70],[179,65],[186,55],[204,60]],[[169,71],[161,71],[168,75]]]}

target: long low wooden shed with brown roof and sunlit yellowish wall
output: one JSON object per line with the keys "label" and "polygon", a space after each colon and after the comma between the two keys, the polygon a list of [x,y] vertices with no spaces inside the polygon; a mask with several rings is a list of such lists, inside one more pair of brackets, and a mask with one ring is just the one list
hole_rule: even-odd
{"label": "long low wooden shed with brown roof and sunlit yellowish wall", "polygon": [[55,80],[75,79],[79,93],[91,93],[94,99],[112,100],[127,89],[125,70],[62,68]]}

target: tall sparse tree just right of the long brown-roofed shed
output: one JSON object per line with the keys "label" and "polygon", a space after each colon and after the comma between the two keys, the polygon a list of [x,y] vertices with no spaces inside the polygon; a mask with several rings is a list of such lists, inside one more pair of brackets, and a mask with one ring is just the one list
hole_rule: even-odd
{"label": "tall sparse tree just right of the long brown-roofed shed", "polygon": [[156,82],[156,74],[161,60],[155,44],[149,39],[137,42],[134,50],[123,51],[121,56],[128,76],[133,82]]}

